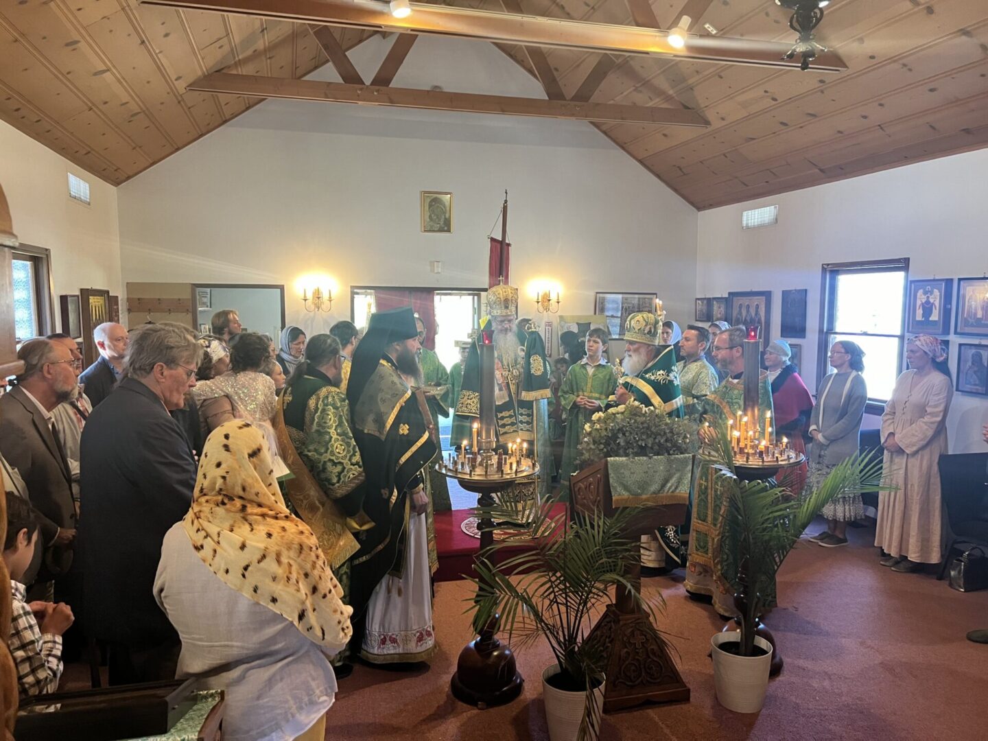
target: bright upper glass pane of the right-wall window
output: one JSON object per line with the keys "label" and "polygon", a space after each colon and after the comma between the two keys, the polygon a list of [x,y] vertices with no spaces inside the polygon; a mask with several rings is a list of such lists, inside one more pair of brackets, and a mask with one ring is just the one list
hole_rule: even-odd
{"label": "bright upper glass pane of the right-wall window", "polygon": [[835,292],[835,332],[869,332],[897,335],[902,332],[904,271],[841,273]]}

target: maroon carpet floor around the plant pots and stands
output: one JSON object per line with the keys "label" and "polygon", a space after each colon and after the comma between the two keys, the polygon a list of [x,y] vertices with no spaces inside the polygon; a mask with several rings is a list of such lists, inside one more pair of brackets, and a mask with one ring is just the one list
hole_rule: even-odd
{"label": "maroon carpet floor around the plant pots and stands", "polygon": [[[810,533],[816,533],[811,528]],[[767,622],[785,658],[765,708],[741,715],[713,694],[710,636],[723,625],[691,601],[682,573],[645,580],[666,601],[659,627],[679,649],[690,702],[606,716],[606,741],[657,739],[988,739],[988,645],[966,631],[988,627],[988,591],[961,594],[934,574],[878,565],[871,530],[852,544],[822,548],[803,539],[782,567],[779,603]],[[453,700],[450,677],[471,638],[469,584],[436,586],[440,651],[410,673],[359,666],[340,684],[327,739],[547,741],[541,671],[544,643],[518,651],[527,682],[518,700],[476,710]]]}

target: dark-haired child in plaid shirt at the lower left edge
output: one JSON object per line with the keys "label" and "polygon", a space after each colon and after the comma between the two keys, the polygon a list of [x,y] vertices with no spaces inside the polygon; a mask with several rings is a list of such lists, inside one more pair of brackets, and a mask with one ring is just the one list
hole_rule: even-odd
{"label": "dark-haired child in plaid shirt at the lower left edge", "polygon": [[[72,611],[64,603],[25,603],[27,587],[19,581],[31,565],[38,540],[38,521],[31,505],[17,494],[7,497],[7,537],[3,559],[10,572],[14,594],[10,626],[10,652],[17,666],[18,691],[22,698],[53,693],[61,678],[61,635],[72,624]],[[41,627],[39,628],[39,621]]]}

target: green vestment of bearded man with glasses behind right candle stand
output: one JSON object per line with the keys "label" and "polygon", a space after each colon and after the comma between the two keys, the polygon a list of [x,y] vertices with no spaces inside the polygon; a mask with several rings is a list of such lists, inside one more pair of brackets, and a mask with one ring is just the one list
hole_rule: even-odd
{"label": "green vestment of bearded man with glasses behind right candle stand", "polygon": [[[727,378],[717,386],[702,402],[702,413],[710,424],[725,427],[727,420],[744,409],[744,381],[741,378]],[[758,384],[759,412],[773,411],[772,387],[769,376],[761,373]],[[690,531],[690,560],[686,572],[688,592],[709,595],[713,607],[720,615],[735,615],[734,590],[720,573],[720,540],[727,498],[716,471],[704,463],[694,494],[693,517]],[[775,590],[768,596],[775,603]]]}

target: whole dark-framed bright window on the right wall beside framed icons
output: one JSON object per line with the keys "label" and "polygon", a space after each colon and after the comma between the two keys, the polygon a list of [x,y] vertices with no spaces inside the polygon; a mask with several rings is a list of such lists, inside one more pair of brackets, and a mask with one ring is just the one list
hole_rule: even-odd
{"label": "whole dark-framed bright window on the right wall beside framed icons", "polygon": [[879,411],[902,371],[909,259],[823,266],[825,296],[817,377],[832,371],[830,346],[851,340],[864,350],[869,412]]}

